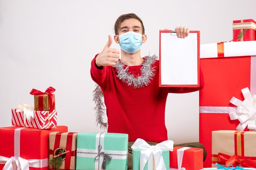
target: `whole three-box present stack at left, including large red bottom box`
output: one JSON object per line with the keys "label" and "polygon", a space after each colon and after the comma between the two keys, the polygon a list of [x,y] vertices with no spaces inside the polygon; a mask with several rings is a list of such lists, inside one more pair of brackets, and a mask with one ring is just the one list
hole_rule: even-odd
{"label": "whole three-box present stack at left, including large red bottom box", "polygon": [[20,104],[11,109],[14,126],[0,128],[0,169],[49,169],[49,133],[67,132],[67,126],[57,126],[54,91],[32,89],[35,108]]}

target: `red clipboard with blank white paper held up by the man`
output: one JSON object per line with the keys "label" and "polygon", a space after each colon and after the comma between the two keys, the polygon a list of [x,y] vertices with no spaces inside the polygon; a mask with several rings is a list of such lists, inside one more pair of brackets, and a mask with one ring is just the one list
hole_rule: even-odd
{"label": "red clipboard with blank white paper held up by the man", "polygon": [[159,31],[159,87],[200,86],[200,31],[178,38],[175,31]]}

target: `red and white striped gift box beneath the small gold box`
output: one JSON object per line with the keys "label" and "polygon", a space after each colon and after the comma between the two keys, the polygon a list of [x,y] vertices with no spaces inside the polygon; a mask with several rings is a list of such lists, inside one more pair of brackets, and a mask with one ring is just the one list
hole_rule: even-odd
{"label": "red and white striped gift box beneath the small gold box", "polygon": [[36,129],[53,129],[57,126],[57,111],[34,111],[34,118],[24,121],[23,111],[16,112],[17,109],[11,109],[11,124]]}

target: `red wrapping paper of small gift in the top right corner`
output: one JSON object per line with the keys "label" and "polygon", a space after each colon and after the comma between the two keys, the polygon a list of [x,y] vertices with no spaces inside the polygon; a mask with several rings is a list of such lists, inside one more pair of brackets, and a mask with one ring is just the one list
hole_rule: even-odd
{"label": "red wrapping paper of small gift in the top right corner", "polygon": [[[237,24],[244,23],[242,29],[234,28]],[[235,20],[233,21],[233,41],[238,41],[237,36],[240,34],[240,32],[245,31],[245,28],[247,28],[249,23],[254,23],[256,25],[256,22],[252,19],[249,20]],[[243,35],[243,38],[240,41],[255,41],[256,40],[256,28],[248,28],[245,34]]]}

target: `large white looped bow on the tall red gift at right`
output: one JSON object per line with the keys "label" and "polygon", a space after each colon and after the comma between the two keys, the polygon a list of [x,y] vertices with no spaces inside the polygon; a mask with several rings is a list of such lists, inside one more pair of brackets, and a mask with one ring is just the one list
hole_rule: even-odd
{"label": "large white looped bow on the tall red gift at right", "polygon": [[231,98],[230,102],[237,106],[237,110],[234,113],[229,113],[230,120],[238,119],[240,124],[236,127],[236,130],[243,131],[246,126],[248,129],[256,130],[256,95],[253,96],[246,87],[241,90],[245,100],[241,101],[235,97]]}

